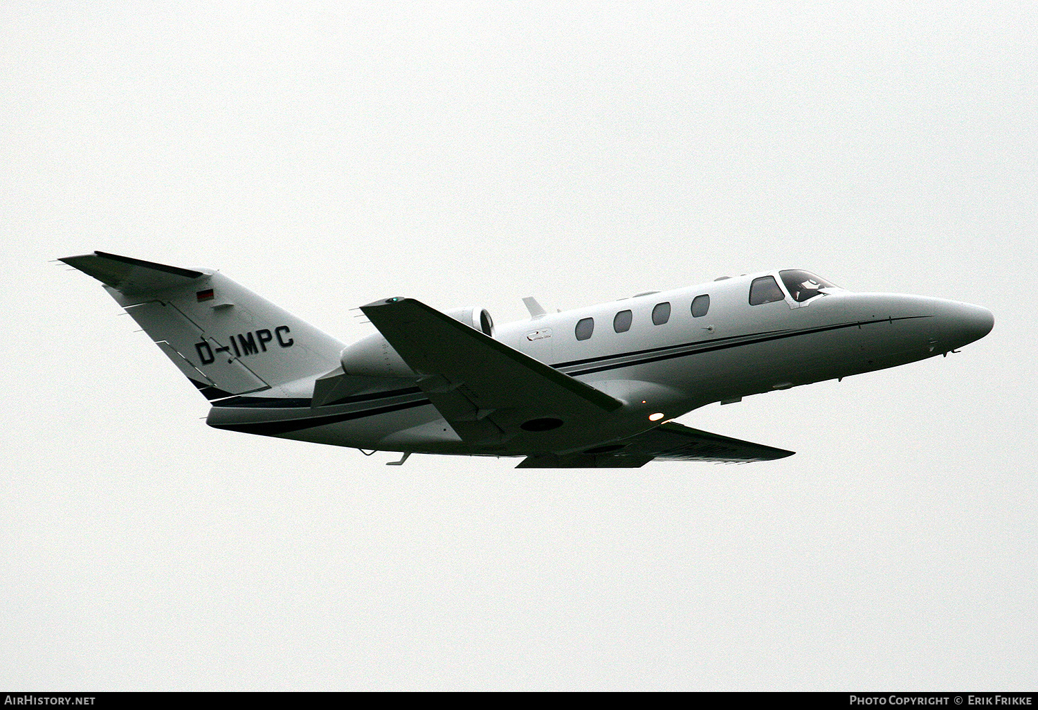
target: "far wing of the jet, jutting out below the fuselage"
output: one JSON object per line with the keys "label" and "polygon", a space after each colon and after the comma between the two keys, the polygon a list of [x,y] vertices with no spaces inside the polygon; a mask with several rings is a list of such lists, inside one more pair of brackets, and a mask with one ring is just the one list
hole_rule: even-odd
{"label": "far wing of the jet, jutting out below the fuselage", "polygon": [[599,446],[599,454],[529,456],[516,468],[638,468],[653,459],[747,463],[793,456],[793,452],[711,434],[674,421],[613,445],[617,449],[612,452],[604,450],[611,446]]}

